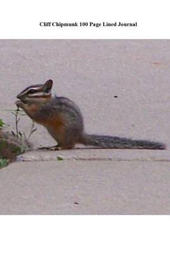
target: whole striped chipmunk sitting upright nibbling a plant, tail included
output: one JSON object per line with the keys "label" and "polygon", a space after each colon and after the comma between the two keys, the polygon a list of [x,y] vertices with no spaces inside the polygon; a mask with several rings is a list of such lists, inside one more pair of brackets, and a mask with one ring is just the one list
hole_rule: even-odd
{"label": "whole striped chipmunk sitting upright nibbling a plant, tail included", "polygon": [[31,85],[17,95],[17,106],[38,124],[46,127],[57,141],[53,150],[74,148],[76,143],[101,148],[166,149],[166,145],[147,140],[86,134],[83,116],[76,104],[65,97],[52,96],[53,81]]}

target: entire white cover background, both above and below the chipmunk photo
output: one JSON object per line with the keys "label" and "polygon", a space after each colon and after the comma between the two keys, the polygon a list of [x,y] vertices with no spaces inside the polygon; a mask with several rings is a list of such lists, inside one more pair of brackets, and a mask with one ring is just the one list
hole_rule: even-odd
{"label": "entire white cover background, both above and below the chipmunk photo", "polygon": [[[166,38],[167,1],[4,1],[0,38]],[[46,22],[138,22],[137,28],[41,28]],[[0,254],[169,255],[169,216],[1,216]]]}

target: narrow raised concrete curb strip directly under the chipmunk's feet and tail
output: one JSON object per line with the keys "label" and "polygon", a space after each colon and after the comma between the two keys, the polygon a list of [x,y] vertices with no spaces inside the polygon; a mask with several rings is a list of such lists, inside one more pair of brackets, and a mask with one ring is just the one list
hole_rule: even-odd
{"label": "narrow raised concrete curb strip directly under the chipmunk's feet and tail", "polygon": [[74,150],[34,150],[17,157],[17,161],[158,161],[170,162],[169,150],[122,150],[81,148]]}

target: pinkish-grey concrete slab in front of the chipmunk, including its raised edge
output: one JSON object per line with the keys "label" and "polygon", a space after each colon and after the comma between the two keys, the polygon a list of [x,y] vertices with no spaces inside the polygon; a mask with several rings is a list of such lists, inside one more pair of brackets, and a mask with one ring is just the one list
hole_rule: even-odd
{"label": "pinkish-grey concrete slab in front of the chipmunk, including its raised edge", "polygon": [[29,152],[0,172],[0,212],[169,214],[169,161],[169,151]]}

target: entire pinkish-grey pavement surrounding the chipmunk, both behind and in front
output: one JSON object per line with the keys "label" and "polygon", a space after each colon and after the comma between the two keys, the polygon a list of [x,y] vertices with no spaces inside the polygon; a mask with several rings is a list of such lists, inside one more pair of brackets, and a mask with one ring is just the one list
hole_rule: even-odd
{"label": "entire pinkish-grey pavement surrounding the chipmunk, both behind and in front", "polygon": [[[0,170],[0,214],[169,214],[169,47],[169,40],[0,40],[8,130],[15,131],[16,95],[53,79],[54,92],[80,106],[87,132],[167,145],[36,150],[55,144],[37,125],[35,150]],[[19,129],[29,134],[27,116]]]}

